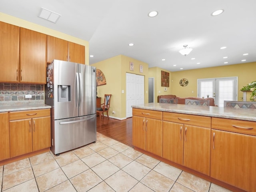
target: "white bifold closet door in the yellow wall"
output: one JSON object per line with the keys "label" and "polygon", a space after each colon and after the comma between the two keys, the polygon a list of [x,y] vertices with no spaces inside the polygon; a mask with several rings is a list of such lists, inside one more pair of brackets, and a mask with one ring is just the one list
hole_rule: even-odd
{"label": "white bifold closet door in the yellow wall", "polygon": [[126,73],[126,118],[132,117],[132,105],[144,104],[144,76]]}

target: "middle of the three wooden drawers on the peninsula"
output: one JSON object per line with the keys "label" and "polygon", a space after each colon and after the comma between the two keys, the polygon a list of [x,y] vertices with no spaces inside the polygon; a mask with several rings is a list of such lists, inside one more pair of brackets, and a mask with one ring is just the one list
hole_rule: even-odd
{"label": "middle of the three wooden drawers on the peninsula", "polygon": [[206,116],[163,112],[163,120],[186,125],[211,128],[211,117]]}

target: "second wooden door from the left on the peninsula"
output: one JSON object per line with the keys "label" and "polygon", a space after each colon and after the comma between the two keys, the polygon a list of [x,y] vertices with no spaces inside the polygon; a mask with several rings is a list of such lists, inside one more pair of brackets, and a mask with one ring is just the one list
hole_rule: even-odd
{"label": "second wooden door from the left on the peninsula", "polygon": [[146,118],[146,151],[162,157],[162,120]]}

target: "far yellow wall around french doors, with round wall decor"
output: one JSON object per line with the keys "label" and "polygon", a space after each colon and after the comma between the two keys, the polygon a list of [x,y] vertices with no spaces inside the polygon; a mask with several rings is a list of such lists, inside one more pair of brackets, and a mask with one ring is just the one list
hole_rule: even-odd
{"label": "far yellow wall around french doors, with round wall decor", "polygon": [[[172,78],[170,78],[171,92],[179,97],[196,97],[198,79],[236,76],[238,77],[238,101],[241,101],[243,92],[240,89],[256,80],[256,62],[172,72]],[[180,86],[179,82],[182,78],[188,80],[188,86]]]}

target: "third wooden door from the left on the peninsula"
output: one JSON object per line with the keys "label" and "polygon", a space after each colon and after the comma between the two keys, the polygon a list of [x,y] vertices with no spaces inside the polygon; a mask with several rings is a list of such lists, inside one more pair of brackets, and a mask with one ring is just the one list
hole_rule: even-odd
{"label": "third wooden door from the left on the peninsula", "polygon": [[163,158],[183,165],[183,124],[163,121]]}

